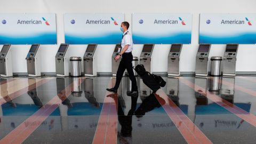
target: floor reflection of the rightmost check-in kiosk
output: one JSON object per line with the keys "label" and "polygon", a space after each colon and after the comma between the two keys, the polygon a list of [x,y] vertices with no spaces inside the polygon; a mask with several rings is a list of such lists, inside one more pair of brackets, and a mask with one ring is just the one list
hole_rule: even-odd
{"label": "floor reflection of the rightmost check-in kiosk", "polygon": [[230,103],[234,103],[234,94],[235,94],[235,77],[222,77],[223,81],[229,82],[232,85],[221,85],[220,95],[222,99],[227,100]]}

